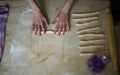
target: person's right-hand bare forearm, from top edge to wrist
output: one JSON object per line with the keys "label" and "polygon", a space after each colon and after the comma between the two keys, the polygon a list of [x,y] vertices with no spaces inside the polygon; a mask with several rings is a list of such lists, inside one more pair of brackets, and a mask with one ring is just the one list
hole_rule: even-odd
{"label": "person's right-hand bare forearm, from top edge to wrist", "polygon": [[74,0],[67,0],[66,3],[64,4],[63,8],[61,9],[61,12],[69,13],[73,2],[74,2]]}

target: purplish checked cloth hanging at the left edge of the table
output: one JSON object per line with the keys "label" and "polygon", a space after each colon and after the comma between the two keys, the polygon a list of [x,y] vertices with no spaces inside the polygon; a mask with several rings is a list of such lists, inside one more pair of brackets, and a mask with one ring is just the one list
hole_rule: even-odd
{"label": "purplish checked cloth hanging at the left edge of the table", "polygon": [[0,62],[4,52],[7,18],[8,7],[6,5],[0,5]]}

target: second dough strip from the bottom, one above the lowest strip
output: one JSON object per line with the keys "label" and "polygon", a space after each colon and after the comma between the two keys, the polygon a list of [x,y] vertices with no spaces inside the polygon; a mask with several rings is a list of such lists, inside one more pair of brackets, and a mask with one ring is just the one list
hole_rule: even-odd
{"label": "second dough strip from the bottom, one above the lowest strip", "polygon": [[105,45],[95,45],[95,46],[84,46],[84,47],[78,47],[80,48],[82,51],[96,51],[96,50],[106,50],[106,46]]}

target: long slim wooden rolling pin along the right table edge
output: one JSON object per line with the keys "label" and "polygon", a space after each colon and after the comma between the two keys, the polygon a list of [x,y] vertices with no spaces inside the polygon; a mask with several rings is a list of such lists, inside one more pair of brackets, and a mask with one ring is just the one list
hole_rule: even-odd
{"label": "long slim wooden rolling pin along the right table edge", "polygon": [[119,71],[119,60],[118,60],[118,52],[116,48],[113,17],[110,8],[107,8],[106,11],[107,11],[106,21],[107,21],[107,32],[109,38],[110,56],[113,63],[114,71]]}

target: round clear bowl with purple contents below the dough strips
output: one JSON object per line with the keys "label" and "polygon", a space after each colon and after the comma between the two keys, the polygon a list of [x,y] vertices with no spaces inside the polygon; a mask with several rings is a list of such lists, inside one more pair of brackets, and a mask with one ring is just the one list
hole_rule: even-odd
{"label": "round clear bowl with purple contents below the dough strips", "polygon": [[102,72],[105,69],[106,62],[105,62],[105,56],[103,55],[93,55],[88,60],[88,68],[92,72]]}

